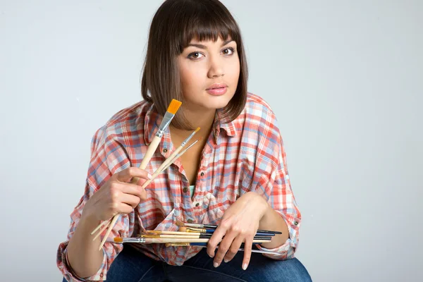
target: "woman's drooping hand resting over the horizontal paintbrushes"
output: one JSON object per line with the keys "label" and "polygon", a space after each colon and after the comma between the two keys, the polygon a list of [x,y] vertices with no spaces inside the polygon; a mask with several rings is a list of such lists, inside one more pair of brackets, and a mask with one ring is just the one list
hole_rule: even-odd
{"label": "woman's drooping hand resting over the horizontal paintbrushes", "polygon": [[[207,253],[210,257],[214,257],[214,267],[219,266],[223,259],[225,262],[233,259],[241,243],[244,243],[242,266],[244,270],[247,269],[250,263],[252,240],[257,233],[260,220],[269,207],[263,197],[255,192],[247,192],[226,210],[221,223],[207,244]],[[219,249],[214,255],[219,242]]]}

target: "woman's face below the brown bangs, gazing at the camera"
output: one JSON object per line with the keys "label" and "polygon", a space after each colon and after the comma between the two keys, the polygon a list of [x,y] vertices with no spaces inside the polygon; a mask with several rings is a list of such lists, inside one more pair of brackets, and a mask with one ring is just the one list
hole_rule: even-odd
{"label": "woman's face below the brown bangs, gazing at the camera", "polygon": [[184,106],[192,111],[220,109],[235,94],[240,75],[236,42],[192,39],[178,56]]}

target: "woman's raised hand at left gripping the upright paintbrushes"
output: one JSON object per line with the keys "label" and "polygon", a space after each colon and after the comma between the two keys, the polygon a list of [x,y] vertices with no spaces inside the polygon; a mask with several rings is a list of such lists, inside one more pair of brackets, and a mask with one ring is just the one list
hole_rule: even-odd
{"label": "woman's raised hand at left gripping the upright paintbrushes", "polygon": [[[134,177],[140,178],[137,184],[129,182]],[[129,214],[141,200],[147,199],[147,192],[141,186],[149,178],[151,175],[147,171],[137,167],[114,173],[87,201],[84,214],[99,221],[111,219],[116,214]]]}

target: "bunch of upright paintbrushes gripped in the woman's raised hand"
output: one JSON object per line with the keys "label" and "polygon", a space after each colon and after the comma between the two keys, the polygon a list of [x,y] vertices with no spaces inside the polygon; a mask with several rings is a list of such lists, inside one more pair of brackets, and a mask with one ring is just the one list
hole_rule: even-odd
{"label": "bunch of upright paintbrushes gripped in the woman's raised hand", "polygon": [[[173,117],[175,116],[176,111],[178,111],[181,104],[182,104],[181,102],[173,99],[171,104],[168,106],[166,114],[164,115],[164,118],[162,119],[162,121],[159,125],[159,130],[157,130],[157,133],[154,136],[154,139],[150,143],[150,145],[147,149],[147,152],[145,153],[145,156],[143,157],[143,159],[141,161],[141,164],[140,164],[141,169],[145,169],[147,167],[147,164],[149,163],[150,159],[152,159],[154,152],[156,151],[157,147],[159,146],[159,143],[160,143],[161,137],[164,134],[164,131],[166,130],[166,128],[168,128],[168,125],[171,124],[171,121],[172,121]],[[198,140],[195,140],[195,142],[193,142],[190,146],[188,146],[186,149],[184,149],[181,152],[183,147],[185,147],[185,145],[188,144],[188,142],[190,141],[192,136],[194,136],[195,133],[197,133],[198,130],[200,130],[200,128],[197,128],[190,136],[188,136],[187,139],[185,139],[180,144],[180,146],[166,159],[166,161],[164,161],[163,164],[161,164],[161,166],[159,168],[157,168],[157,171],[154,171],[154,173],[152,174],[152,178],[147,180],[142,185],[142,188],[146,188],[147,185],[149,185],[149,183],[151,183],[152,180],[154,180],[154,178],[159,176],[159,174],[161,172],[165,171],[166,168],[168,168],[168,166],[171,166],[171,164],[173,164],[173,162],[176,161],[176,159],[178,159],[180,156],[182,156],[188,149],[190,149],[190,147],[192,147],[193,145],[195,145],[195,143],[198,142]],[[136,183],[138,183],[139,180],[140,180],[140,178],[135,177],[135,178],[133,178],[131,183],[136,184]],[[94,241],[97,237],[99,237],[99,235],[101,235],[106,230],[106,228],[109,227],[109,229],[107,229],[106,234],[104,235],[102,243],[99,246],[99,250],[102,250],[104,243],[106,242],[106,240],[108,240],[107,238],[109,237],[111,230],[113,229],[114,225],[116,224],[116,221],[118,220],[118,216],[119,216],[119,214],[116,214],[113,217],[113,219],[111,219],[111,221],[109,220],[109,221],[104,221],[104,222],[100,223],[99,226],[97,226],[97,228],[95,228],[94,231],[92,231],[91,235],[93,235],[95,232],[97,232],[99,230],[97,235],[95,235],[95,237],[93,238],[93,241]]]}

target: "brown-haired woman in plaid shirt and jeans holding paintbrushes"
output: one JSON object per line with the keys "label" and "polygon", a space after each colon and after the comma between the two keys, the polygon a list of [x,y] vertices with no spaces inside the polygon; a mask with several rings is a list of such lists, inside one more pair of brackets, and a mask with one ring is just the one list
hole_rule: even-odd
{"label": "brown-haired woman in plaid shirt and jeans holding paintbrushes", "polygon": [[[142,97],[92,139],[85,193],[58,250],[66,281],[309,281],[294,257],[301,216],[276,118],[247,92],[243,41],[223,4],[164,1],[149,31]],[[142,170],[172,99],[182,106]],[[142,189],[197,127],[192,139],[200,141]],[[176,221],[219,227],[207,249],[108,242],[99,251],[100,238],[92,241],[90,233],[115,214],[121,216],[110,236],[178,230]],[[257,246],[278,255],[251,252],[257,229],[281,231]],[[238,252],[241,243],[245,252]]]}

